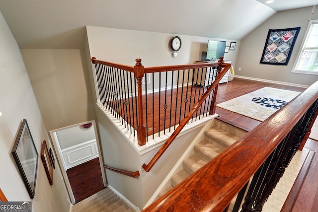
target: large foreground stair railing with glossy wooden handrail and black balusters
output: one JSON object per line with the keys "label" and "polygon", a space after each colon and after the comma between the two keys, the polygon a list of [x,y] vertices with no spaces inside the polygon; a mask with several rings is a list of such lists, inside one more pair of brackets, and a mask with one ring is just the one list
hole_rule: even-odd
{"label": "large foreground stair railing with glossy wooden handrail and black balusters", "polygon": [[[317,113],[318,82],[175,186],[144,212],[227,211],[237,194],[244,194],[243,189],[253,176],[253,187],[248,188],[241,209],[242,212],[252,211],[252,208],[253,211],[261,211],[262,204],[291,160],[287,155],[297,151]],[[277,155],[282,158],[276,158]],[[273,162],[273,165],[267,162]],[[260,175],[263,171],[264,175]],[[259,179],[260,184],[254,182],[254,179]]]}

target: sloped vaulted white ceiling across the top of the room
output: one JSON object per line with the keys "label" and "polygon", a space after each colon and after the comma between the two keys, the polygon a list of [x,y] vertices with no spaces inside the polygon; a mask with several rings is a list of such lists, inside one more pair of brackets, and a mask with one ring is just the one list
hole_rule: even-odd
{"label": "sloped vaulted white ceiling across the top of the room", "polygon": [[240,40],[277,11],[318,3],[265,1],[0,0],[0,12],[21,49],[79,49],[86,25]]}

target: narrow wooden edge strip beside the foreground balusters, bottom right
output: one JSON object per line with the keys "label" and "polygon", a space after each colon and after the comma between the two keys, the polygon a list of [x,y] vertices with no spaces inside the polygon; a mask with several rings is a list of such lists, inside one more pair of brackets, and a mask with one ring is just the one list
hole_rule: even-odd
{"label": "narrow wooden edge strip beside the foreground balusters, bottom right", "polygon": [[315,151],[310,150],[305,162],[294,182],[294,185],[291,189],[291,191],[289,192],[287,199],[281,209],[281,212],[291,212],[295,203],[296,203],[296,199],[297,196],[299,195],[299,192],[304,184],[304,181],[306,179],[306,175],[308,174],[309,168],[314,160],[315,157]]}

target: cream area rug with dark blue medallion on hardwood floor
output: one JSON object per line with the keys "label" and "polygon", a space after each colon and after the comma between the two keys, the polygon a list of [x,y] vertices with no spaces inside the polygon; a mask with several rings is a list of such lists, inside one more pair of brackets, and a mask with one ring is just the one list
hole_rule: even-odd
{"label": "cream area rug with dark blue medallion on hardwood floor", "polygon": [[264,121],[300,92],[263,87],[237,98],[217,104],[217,107]]}

